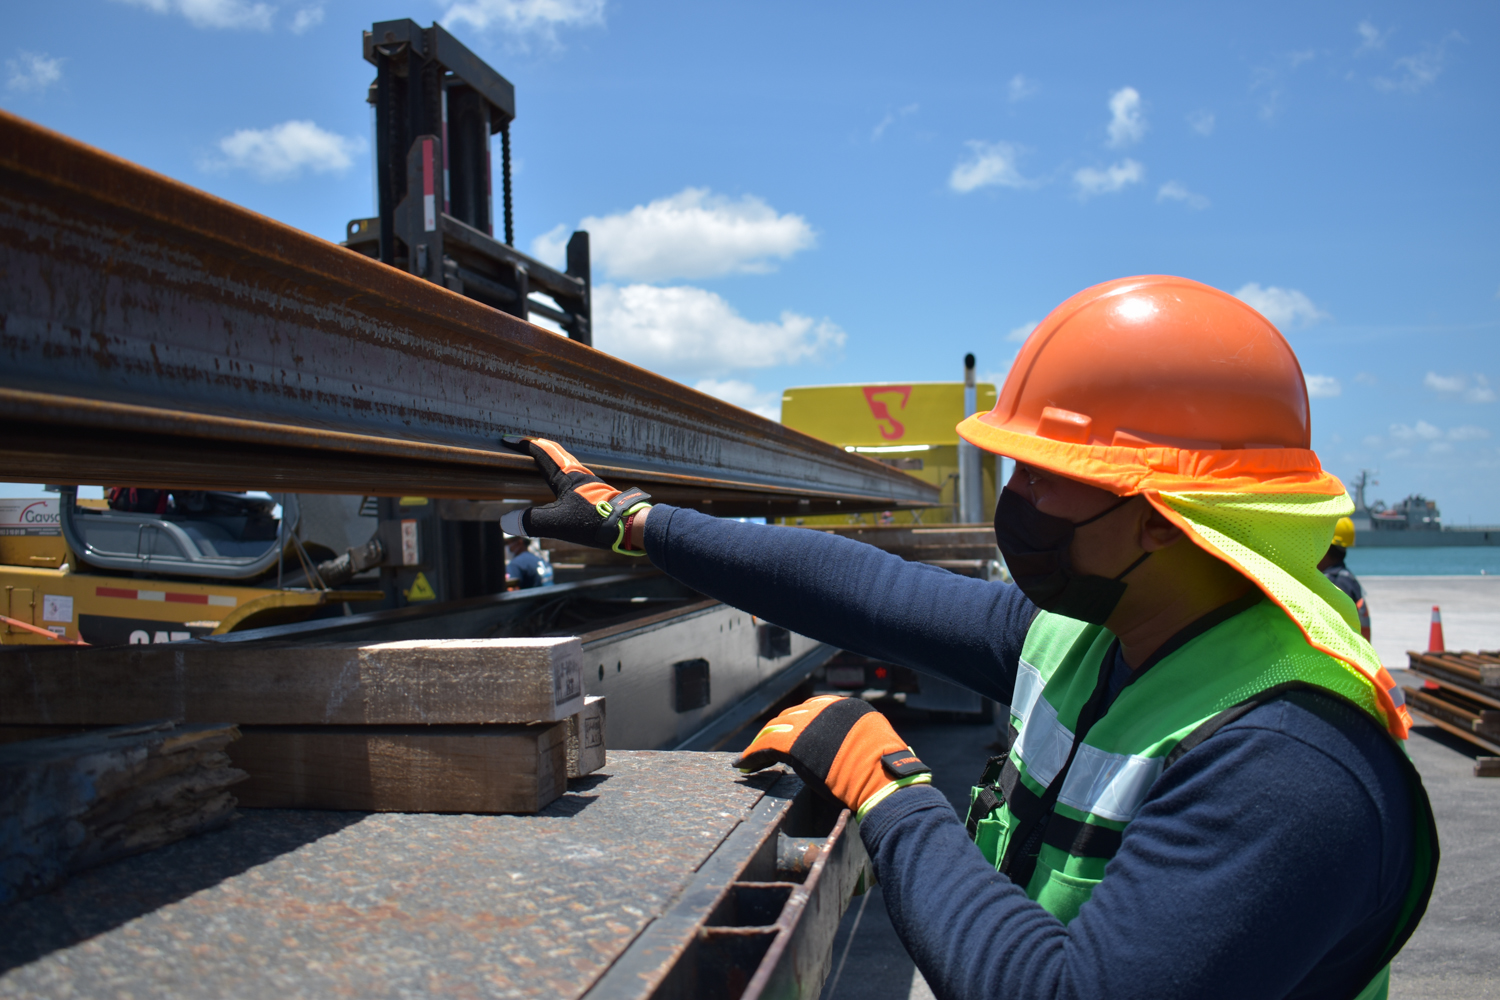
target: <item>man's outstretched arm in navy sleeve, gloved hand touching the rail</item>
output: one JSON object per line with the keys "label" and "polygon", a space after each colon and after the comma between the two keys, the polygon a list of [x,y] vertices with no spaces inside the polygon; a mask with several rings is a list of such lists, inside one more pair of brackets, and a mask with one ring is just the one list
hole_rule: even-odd
{"label": "man's outstretched arm in navy sleeve, gloved hand touching the rail", "polygon": [[[531,454],[558,501],[507,514],[510,534],[630,550],[639,490],[602,483],[552,441],[507,438]],[[1010,703],[1036,609],[1014,586],[908,562],[806,528],[747,525],[657,504],[645,553],[694,591],[842,649],[951,678]]]}

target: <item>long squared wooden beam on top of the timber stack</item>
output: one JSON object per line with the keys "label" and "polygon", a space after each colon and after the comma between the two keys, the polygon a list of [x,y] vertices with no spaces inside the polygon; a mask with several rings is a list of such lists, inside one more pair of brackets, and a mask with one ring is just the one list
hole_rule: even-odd
{"label": "long squared wooden beam on top of the timber stack", "polygon": [[22,646],[0,657],[0,724],[555,723],[584,708],[582,660],[567,637]]}

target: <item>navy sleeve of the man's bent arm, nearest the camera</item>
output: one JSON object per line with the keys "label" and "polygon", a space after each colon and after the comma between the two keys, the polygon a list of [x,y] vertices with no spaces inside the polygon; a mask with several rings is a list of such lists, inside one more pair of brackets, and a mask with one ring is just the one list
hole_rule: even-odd
{"label": "navy sleeve of the man's bent arm, nearest the camera", "polygon": [[1412,858],[1401,751],[1348,711],[1276,702],[1185,754],[1066,925],[984,862],[932,787],[860,832],[938,997],[1353,997]]}

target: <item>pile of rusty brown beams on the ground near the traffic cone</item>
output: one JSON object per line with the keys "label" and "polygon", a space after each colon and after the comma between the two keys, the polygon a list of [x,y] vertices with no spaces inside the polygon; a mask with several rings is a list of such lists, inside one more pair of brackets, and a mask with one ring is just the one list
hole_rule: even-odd
{"label": "pile of rusty brown beams on the ground near the traffic cone", "polygon": [[1434,726],[1461,736],[1490,756],[1474,774],[1500,777],[1500,651],[1407,651],[1422,687],[1407,687],[1407,706]]}

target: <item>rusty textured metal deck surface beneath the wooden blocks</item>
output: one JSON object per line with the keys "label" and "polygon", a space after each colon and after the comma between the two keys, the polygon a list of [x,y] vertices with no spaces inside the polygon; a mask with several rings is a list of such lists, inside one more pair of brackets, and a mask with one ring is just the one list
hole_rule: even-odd
{"label": "rusty textured metal deck surface beneath the wooden blocks", "polygon": [[246,810],[0,912],[0,997],[578,997],[764,798],[610,753],[537,816]]}

